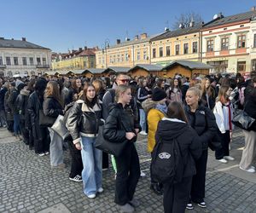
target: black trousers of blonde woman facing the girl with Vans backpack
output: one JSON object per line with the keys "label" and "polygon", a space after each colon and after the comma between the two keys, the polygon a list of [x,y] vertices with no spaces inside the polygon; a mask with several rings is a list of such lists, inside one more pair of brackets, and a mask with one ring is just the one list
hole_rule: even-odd
{"label": "black trousers of blonde woman facing the girl with Vans backpack", "polygon": [[191,187],[191,199],[195,203],[201,203],[206,193],[208,150],[203,150],[201,158],[195,161],[196,174],[193,176]]}

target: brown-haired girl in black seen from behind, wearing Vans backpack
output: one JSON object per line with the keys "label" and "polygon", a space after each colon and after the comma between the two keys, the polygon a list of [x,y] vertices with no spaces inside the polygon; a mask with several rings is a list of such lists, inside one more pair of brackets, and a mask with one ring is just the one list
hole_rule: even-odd
{"label": "brown-haired girl in black seen from behind, wearing Vans backpack", "polygon": [[180,182],[164,186],[165,213],[183,213],[189,202],[192,178],[196,173],[195,160],[201,157],[201,142],[185,116],[181,103],[170,103],[167,118],[162,118],[156,131],[156,142],[176,140],[183,157],[183,177]]}

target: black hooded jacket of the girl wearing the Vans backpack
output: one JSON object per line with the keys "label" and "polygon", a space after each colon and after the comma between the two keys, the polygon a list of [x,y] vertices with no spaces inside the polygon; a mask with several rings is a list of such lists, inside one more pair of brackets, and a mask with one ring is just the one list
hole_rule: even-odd
{"label": "black hooded jacket of the girl wearing the Vans backpack", "polygon": [[201,157],[201,142],[189,124],[178,119],[163,118],[157,127],[155,140],[172,142],[175,138],[183,156],[183,177],[194,176],[196,173],[195,160]]}

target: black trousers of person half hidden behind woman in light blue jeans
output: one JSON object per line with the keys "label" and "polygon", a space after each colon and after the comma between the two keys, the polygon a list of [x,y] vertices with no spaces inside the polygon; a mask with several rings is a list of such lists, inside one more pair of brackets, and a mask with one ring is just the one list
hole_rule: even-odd
{"label": "black trousers of person half hidden behind woman in light blue jeans", "polygon": [[67,141],[67,144],[71,155],[71,169],[69,177],[73,178],[77,175],[82,176],[83,162],[81,151],[74,146],[73,141]]}

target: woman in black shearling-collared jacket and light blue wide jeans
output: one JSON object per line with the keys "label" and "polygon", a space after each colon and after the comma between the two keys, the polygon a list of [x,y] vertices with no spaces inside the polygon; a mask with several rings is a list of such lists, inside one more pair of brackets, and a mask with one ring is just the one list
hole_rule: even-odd
{"label": "woman in black shearling-collared jacket and light blue wide jeans", "polygon": [[95,199],[96,193],[103,192],[102,151],[95,147],[99,125],[103,124],[101,118],[102,101],[99,101],[95,87],[88,83],[81,100],[76,101],[68,113],[66,125],[73,144],[81,150],[83,191],[89,199]]}

